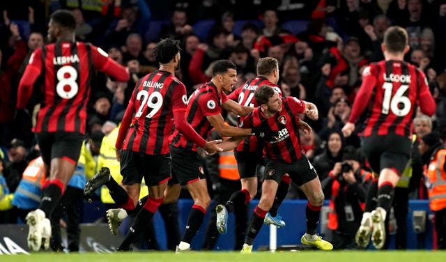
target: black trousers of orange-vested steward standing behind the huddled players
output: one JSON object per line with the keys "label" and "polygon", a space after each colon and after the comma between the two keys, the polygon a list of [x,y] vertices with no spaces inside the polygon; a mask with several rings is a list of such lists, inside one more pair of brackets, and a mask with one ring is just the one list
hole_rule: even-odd
{"label": "black trousers of orange-vested steward standing behind the huddled players", "polygon": [[[212,250],[215,246],[215,242],[217,242],[218,236],[220,235],[220,233],[218,233],[217,231],[217,226],[215,226],[215,223],[217,222],[217,213],[215,213],[215,207],[217,205],[226,203],[233,192],[241,189],[240,180],[228,180],[220,178],[220,183],[222,184],[222,187],[220,188],[220,190],[218,190],[218,192],[215,192],[214,194],[215,206],[213,206],[212,214],[206,228],[203,250]],[[246,208],[242,208],[240,210],[238,210],[237,208],[234,210],[234,215],[236,216],[236,245],[234,246],[234,250],[241,250],[243,247],[243,242],[245,242],[245,232],[247,229],[247,213],[247,206]]]}

